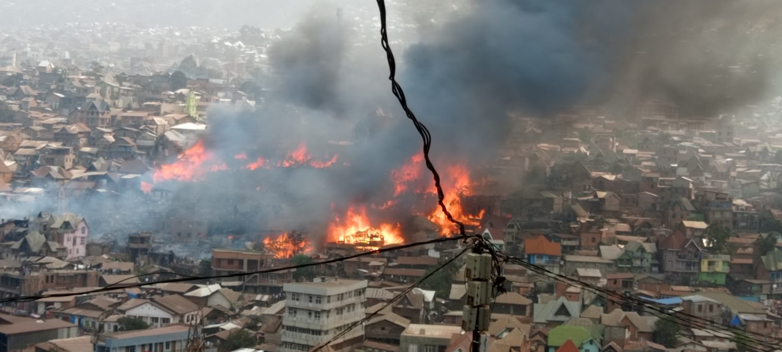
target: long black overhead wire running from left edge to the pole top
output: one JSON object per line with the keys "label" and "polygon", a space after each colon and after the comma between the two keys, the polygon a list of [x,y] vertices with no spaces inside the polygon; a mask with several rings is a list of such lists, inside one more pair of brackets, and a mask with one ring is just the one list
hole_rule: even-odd
{"label": "long black overhead wire running from left edge to the pole top", "polygon": [[[123,280],[120,280],[119,282],[115,282],[112,285],[102,287],[99,289],[92,289],[89,291],[81,292],[81,293],[51,293],[51,294],[43,294],[38,296],[14,296],[14,297],[6,297],[0,299],[0,303],[7,303],[7,302],[26,302],[26,301],[33,301],[33,300],[40,300],[42,298],[52,298],[52,297],[70,297],[70,296],[84,296],[84,295],[91,295],[94,293],[104,293],[109,291],[114,291],[117,289],[131,289],[136,287],[142,287],[142,286],[149,286],[149,285],[156,285],[156,284],[162,284],[162,283],[172,283],[172,282],[188,282],[188,281],[195,281],[195,280],[204,280],[204,279],[215,279],[215,278],[236,278],[240,276],[245,275],[256,275],[256,274],[270,274],[278,271],[287,271],[287,270],[295,270],[300,268],[308,268],[308,267],[314,267],[317,265],[322,264],[332,264],[337,263],[339,261],[344,261],[348,259],[353,259],[357,257],[365,257],[371,254],[375,253],[386,253],[386,252],[392,252],[394,250],[404,250],[405,248],[411,248],[411,247],[417,247],[417,246],[425,246],[428,244],[434,244],[434,243],[440,243],[440,242],[450,242],[450,241],[459,241],[462,240],[461,237],[440,237],[437,239],[430,239],[429,241],[423,241],[423,242],[413,242],[408,243],[404,245],[399,246],[391,246],[386,248],[381,248],[379,250],[371,250],[368,252],[362,252],[362,253],[356,253],[352,254],[350,256],[346,257],[339,257],[329,260],[321,260],[314,263],[308,263],[308,264],[300,264],[300,265],[292,265],[287,267],[281,267],[281,268],[270,268],[270,269],[264,269],[264,270],[258,270],[258,271],[242,271],[238,273],[233,274],[224,274],[224,275],[210,275],[210,276],[191,276],[191,275],[180,275],[180,274],[174,274],[181,276],[180,278],[168,278],[165,280],[158,280],[153,282],[140,282],[140,283],[133,283],[128,285],[121,285],[122,282],[127,282],[130,280],[133,280],[135,278],[143,278],[145,276],[150,275],[156,275],[158,273],[152,273],[152,274],[142,274],[142,275],[134,275],[128,278],[124,278]],[[167,273],[172,274],[172,273]]]}

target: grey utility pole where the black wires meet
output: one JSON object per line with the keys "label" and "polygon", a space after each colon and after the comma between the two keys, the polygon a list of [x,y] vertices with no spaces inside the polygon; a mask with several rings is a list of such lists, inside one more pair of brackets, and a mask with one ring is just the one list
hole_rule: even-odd
{"label": "grey utility pole where the black wires meet", "polygon": [[486,352],[486,335],[489,329],[493,287],[491,285],[492,257],[482,253],[481,249],[473,250],[467,255],[465,279],[467,280],[467,304],[462,315],[461,329],[472,329],[472,352]]}

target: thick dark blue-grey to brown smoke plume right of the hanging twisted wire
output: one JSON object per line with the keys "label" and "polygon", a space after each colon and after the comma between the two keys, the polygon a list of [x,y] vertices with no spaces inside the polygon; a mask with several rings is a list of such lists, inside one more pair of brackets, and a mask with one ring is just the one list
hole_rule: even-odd
{"label": "thick dark blue-grey to brown smoke plume right of the hanging twisted wire", "polygon": [[550,117],[576,104],[633,117],[638,103],[666,99],[685,118],[714,117],[755,103],[776,78],[780,10],[741,0],[472,2],[407,50],[405,83],[440,140],[502,142],[508,111]]}

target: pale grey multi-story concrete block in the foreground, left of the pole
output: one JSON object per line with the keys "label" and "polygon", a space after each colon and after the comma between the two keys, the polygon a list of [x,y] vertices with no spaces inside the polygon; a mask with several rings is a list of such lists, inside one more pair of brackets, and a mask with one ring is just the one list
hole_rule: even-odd
{"label": "pale grey multi-story concrete block in the foreground, left of the pole", "polygon": [[[364,318],[367,281],[327,278],[321,282],[286,283],[280,352],[308,351],[350,329]],[[357,325],[330,345],[346,352],[364,342]]]}

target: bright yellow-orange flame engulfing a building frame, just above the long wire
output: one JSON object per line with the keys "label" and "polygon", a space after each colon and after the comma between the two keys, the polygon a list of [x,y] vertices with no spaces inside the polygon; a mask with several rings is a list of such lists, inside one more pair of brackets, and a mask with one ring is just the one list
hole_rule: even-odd
{"label": "bright yellow-orange flame engulfing a building frame, just above the long wire", "polygon": [[335,217],[329,224],[328,239],[355,244],[365,250],[377,250],[381,246],[404,242],[400,227],[400,224],[372,225],[366,207],[351,206],[344,217]]}

